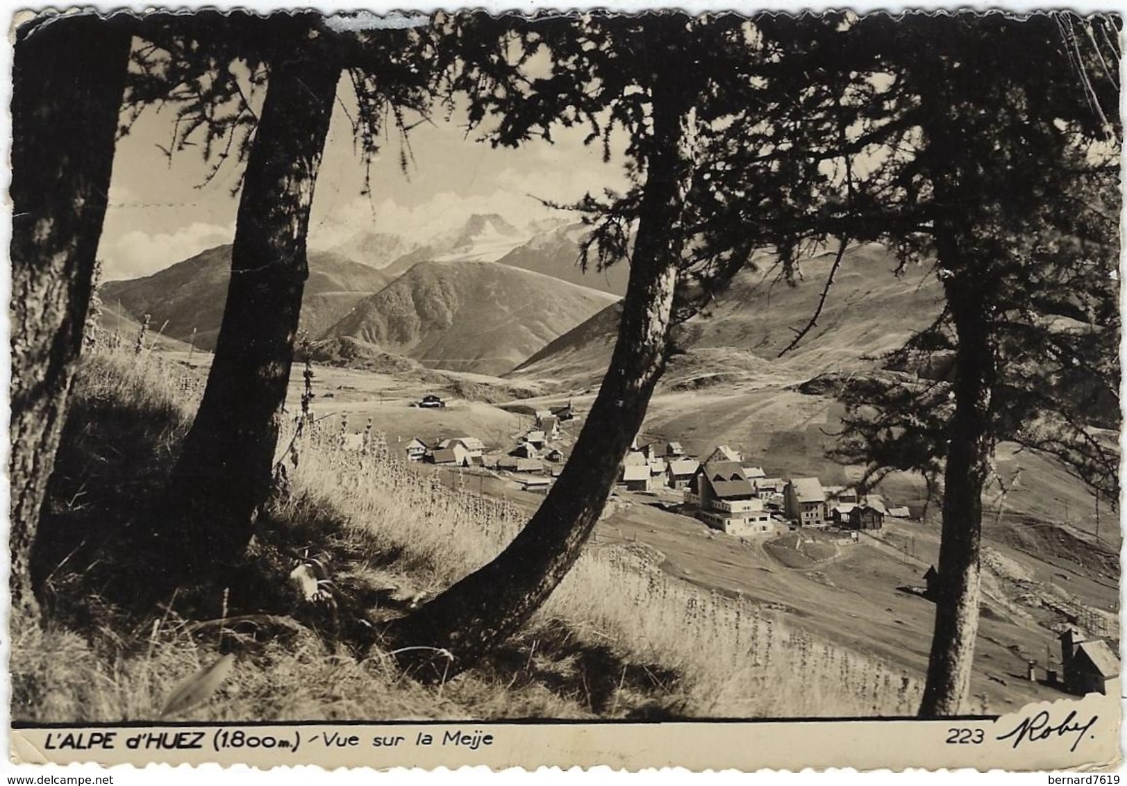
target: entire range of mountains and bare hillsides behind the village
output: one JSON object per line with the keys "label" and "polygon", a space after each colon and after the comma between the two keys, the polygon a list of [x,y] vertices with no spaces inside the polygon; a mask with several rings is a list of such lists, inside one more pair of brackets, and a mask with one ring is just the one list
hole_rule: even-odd
{"label": "entire range of mountains and bare hillsides behind the village", "polygon": [[[382,254],[387,264],[380,268],[341,250],[311,253],[302,323],[325,342],[318,347],[325,362],[355,364],[362,355],[365,366],[385,371],[505,376],[516,386],[552,391],[545,404],[566,394],[589,406],[616,341],[621,303],[614,293],[564,280],[574,267],[561,263],[574,263],[567,249],[577,249],[582,227],[536,229],[530,238],[525,230],[514,235],[512,224],[483,218],[436,238],[431,254],[440,258],[419,254],[409,266],[403,258],[418,247],[388,262],[402,249],[393,238],[354,239],[353,253],[366,248],[369,259]],[[843,415],[833,380],[889,373],[885,355],[935,319],[943,294],[926,264],[897,275],[891,250],[855,246],[844,254],[816,324],[780,356],[818,311],[833,259],[832,253],[804,259],[799,275],[788,282],[778,277],[769,254],[757,255],[757,267],[738,274],[676,329],[644,432],[677,439],[696,454],[730,444],[756,457],[769,474],[854,480],[852,468],[826,456]],[[397,263],[406,270],[389,280]],[[105,318],[134,334],[131,320],[150,313],[152,334],[167,320],[165,336],[187,341],[195,327],[196,346],[213,345],[229,265],[230,247],[221,246],[145,279],[108,282],[101,297],[113,313]],[[625,265],[622,271],[612,268],[609,276],[624,276]],[[580,281],[593,281],[589,273],[582,275]],[[825,383],[816,385],[819,380]],[[1000,518],[996,524],[1000,532],[1024,537],[1022,522],[1054,521],[1062,506],[1072,511],[1070,531],[1091,531],[1098,520],[1089,514],[1092,498],[1059,466],[1006,456],[1000,467],[1023,469],[1036,483],[1023,483],[1009,497],[1004,522]],[[915,505],[923,504],[926,492],[919,478],[900,475],[887,478],[882,488]]]}

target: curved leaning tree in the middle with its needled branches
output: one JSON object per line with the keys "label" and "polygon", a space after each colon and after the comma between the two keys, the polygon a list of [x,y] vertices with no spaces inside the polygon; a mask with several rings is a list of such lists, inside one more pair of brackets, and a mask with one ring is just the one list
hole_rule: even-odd
{"label": "curved leaning tree in the middle with its needled branches", "polygon": [[[717,162],[704,151],[722,152],[713,140],[729,123],[746,129],[792,106],[783,85],[792,72],[779,69],[774,44],[735,15],[478,18],[458,41],[463,62],[454,89],[469,94],[471,122],[498,118],[495,143],[551,140],[556,124],[586,124],[588,141],[601,140],[609,152],[613,129],[629,132],[632,188],[588,195],[574,207],[592,226],[582,263],[628,258],[630,280],[610,368],[544,502],[492,562],[385,628],[385,643],[423,680],[449,678],[511,636],[578,558],[641,427],[672,348],[671,329],[765,241],[766,235],[710,244],[701,235],[700,217],[720,198],[707,176]],[[522,70],[540,47],[551,54],[548,77]],[[762,132],[757,149],[789,131],[780,123]],[[767,176],[755,191],[778,184]]]}

